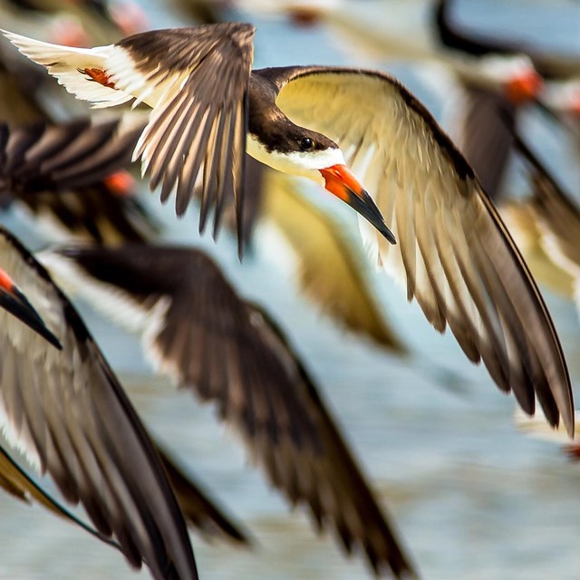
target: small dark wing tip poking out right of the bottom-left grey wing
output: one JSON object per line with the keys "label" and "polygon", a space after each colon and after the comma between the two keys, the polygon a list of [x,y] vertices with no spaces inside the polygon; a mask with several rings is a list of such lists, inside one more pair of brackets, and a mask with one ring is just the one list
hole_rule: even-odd
{"label": "small dark wing tip poking out right of the bottom-left grey wing", "polygon": [[219,537],[243,546],[249,545],[247,531],[234,523],[231,517],[218,507],[216,500],[209,498],[198,482],[186,474],[167,451],[160,449],[158,445],[157,452],[186,521],[208,540]]}

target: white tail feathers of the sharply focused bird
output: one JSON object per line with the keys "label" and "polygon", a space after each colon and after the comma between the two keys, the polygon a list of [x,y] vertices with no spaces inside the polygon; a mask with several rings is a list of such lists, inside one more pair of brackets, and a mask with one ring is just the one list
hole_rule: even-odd
{"label": "white tail feathers of the sharply focused bird", "polygon": [[131,101],[131,94],[96,82],[84,71],[107,70],[107,61],[115,46],[74,48],[60,44],[43,43],[20,34],[1,31],[16,48],[34,63],[42,64],[68,92],[77,99],[90,101],[93,108],[104,108]]}

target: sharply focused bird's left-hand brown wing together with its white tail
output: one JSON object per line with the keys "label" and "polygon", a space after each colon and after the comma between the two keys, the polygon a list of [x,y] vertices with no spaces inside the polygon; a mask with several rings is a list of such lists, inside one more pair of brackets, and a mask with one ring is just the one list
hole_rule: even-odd
{"label": "sharply focused bird's left-hand brown wing together with its white tail", "polygon": [[150,172],[151,189],[162,182],[162,201],[177,188],[178,215],[200,179],[202,215],[205,204],[215,208],[217,231],[222,207],[232,198],[241,221],[254,32],[252,25],[239,23],[173,28],[92,49],[5,34],[81,99],[111,106],[135,97],[150,104],[133,159],[141,158],[143,173]]}

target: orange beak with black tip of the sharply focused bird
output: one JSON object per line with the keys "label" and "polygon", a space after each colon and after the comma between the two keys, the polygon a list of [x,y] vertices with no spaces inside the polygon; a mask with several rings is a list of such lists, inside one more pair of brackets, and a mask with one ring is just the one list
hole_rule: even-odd
{"label": "orange beak with black tip of the sharply focused bird", "polygon": [[384,223],[381,211],[346,165],[333,165],[326,169],[320,169],[320,172],[324,177],[326,189],[361,214],[362,218],[376,227],[391,244],[397,243],[391,230]]}

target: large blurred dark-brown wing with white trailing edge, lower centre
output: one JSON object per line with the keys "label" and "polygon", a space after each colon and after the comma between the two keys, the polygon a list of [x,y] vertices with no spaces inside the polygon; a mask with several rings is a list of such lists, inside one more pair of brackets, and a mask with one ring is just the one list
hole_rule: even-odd
{"label": "large blurred dark-brown wing with white trailing edge, lower centre", "polygon": [[43,256],[66,284],[142,334],[160,372],[218,405],[271,483],[374,571],[415,575],[321,395],[272,318],[185,247],[70,247]]}

